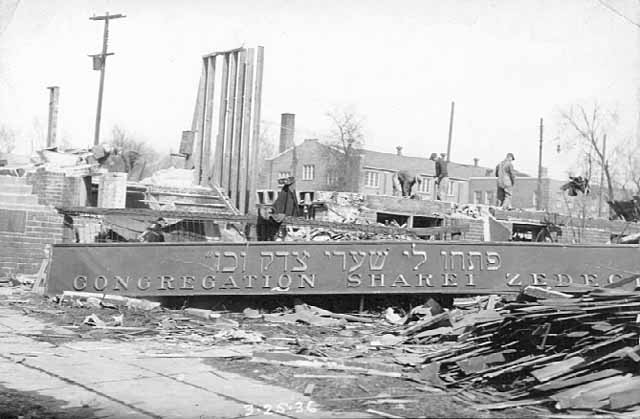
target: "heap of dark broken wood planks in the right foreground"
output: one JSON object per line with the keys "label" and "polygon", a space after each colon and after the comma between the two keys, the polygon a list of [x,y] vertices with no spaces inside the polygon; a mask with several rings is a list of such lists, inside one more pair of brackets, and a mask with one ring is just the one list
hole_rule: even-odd
{"label": "heap of dark broken wood planks in the right foreground", "polygon": [[[441,383],[491,385],[507,395],[509,403],[487,409],[548,401],[573,414],[587,409],[640,416],[639,292],[528,287],[515,302],[490,311],[476,313],[453,346],[426,354],[424,362],[436,366]],[[424,342],[442,320],[438,316],[401,334]],[[444,331],[439,339],[452,337]]]}

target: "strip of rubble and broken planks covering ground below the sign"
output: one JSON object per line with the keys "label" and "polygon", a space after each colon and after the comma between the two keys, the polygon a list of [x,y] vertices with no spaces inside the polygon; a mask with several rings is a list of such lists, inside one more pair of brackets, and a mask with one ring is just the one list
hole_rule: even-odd
{"label": "strip of rubble and broken planks covering ground below the sign", "polygon": [[[144,336],[183,350],[176,353],[172,346],[143,356],[226,359],[229,368],[239,367],[229,364],[235,359],[280,368],[283,376],[304,380],[305,391],[318,397],[331,380],[395,380],[404,395],[369,394],[357,401],[398,417],[416,414],[416,400],[436,394],[486,412],[640,415],[637,292],[529,286],[517,298],[455,298],[448,308],[427,299],[406,311],[345,314],[302,301],[290,309],[243,312],[170,310],[157,302],[77,292],[47,302],[28,289],[0,287],[0,301],[67,323],[69,334],[48,339]],[[49,307],[34,305],[37,301]],[[207,355],[214,348],[217,352]]]}

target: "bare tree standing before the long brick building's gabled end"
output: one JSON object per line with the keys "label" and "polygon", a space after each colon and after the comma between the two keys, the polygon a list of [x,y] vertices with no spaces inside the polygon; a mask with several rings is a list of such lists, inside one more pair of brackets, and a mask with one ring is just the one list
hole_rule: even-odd
{"label": "bare tree standing before the long brick building's gabled end", "polygon": [[348,108],[334,109],[327,117],[332,123],[329,143],[335,151],[333,161],[337,186],[343,191],[357,189],[358,164],[364,145],[362,117]]}

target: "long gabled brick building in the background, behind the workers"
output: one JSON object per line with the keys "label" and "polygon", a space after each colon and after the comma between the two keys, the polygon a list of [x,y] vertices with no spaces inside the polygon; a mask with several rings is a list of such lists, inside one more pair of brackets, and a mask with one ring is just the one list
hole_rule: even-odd
{"label": "long gabled brick building in the background, behind the workers", "polygon": [[[334,191],[345,189],[366,195],[392,195],[393,174],[398,170],[409,170],[422,178],[422,183],[414,187],[414,192],[423,199],[433,199],[435,163],[426,157],[411,157],[402,154],[402,147],[396,153],[382,153],[362,149],[353,158],[353,175],[346,182],[341,179],[340,150],[322,144],[317,139],[306,139],[302,144],[289,147],[267,159],[267,173],[261,177],[258,189],[274,190],[278,179],[295,176],[296,189],[301,194],[306,191]],[[470,177],[485,176],[486,167],[477,164],[450,162],[449,177],[443,184],[444,200],[450,202],[468,202]],[[342,185],[346,184],[344,188]]]}

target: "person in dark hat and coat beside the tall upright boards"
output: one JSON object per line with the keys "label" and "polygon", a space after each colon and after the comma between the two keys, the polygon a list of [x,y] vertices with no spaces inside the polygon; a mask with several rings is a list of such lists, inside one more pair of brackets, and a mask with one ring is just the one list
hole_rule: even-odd
{"label": "person in dark hat and coat beside the tall upright boards", "polygon": [[284,217],[299,217],[300,207],[298,197],[294,188],[295,178],[278,179],[282,184],[282,189],[273,203],[273,207],[268,210],[258,212],[258,222],[256,232],[260,241],[274,241],[280,230]]}

